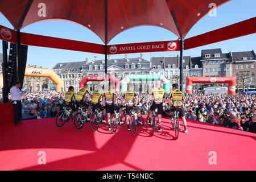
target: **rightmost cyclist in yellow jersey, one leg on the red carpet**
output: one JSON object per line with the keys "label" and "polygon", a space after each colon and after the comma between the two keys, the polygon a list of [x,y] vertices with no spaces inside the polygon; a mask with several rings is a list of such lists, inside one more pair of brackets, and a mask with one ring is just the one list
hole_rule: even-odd
{"label": "rightmost cyclist in yellow jersey, one leg on the red carpet", "polygon": [[[171,103],[172,100],[172,103]],[[185,110],[183,108],[183,93],[179,90],[178,84],[172,84],[172,92],[168,95],[168,104],[170,105],[170,111],[174,112],[179,111],[179,117],[182,118],[183,125],[184,125],[184,132],[187,133],[187,121],[185,118]],[[171,121],[172,124],[172,121]]]}

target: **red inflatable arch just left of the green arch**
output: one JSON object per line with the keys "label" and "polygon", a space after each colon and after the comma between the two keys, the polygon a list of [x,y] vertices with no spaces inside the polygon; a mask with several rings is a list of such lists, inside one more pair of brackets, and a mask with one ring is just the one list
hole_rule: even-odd
{"label": "red inflatable arch just left of the green arch", "polygon": [[[105,76],[85,76],[80,81],[80,88],[83,87],[84,84],[88,81],[104,81]],[[113,81],[115,83],[115,91],[120,92],[120,81],[114,75],[108,75],[108,80]]]}

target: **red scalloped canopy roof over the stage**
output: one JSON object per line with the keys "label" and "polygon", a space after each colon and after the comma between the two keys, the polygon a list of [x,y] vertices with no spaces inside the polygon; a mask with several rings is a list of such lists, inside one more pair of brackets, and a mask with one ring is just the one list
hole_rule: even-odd
{"label": "red scalloped canopy roof over the stage", "polygon": [[[214,0],[214,3],[220,6],[228,1]],[[108,2],[108,39],[105,39],[105,2]],[[109,43],[120,32],[142,25],[163,27],[184,38],[208,14],[210,3],[212,0],[0,0],[0,12],[16,30],[42,20],[62,19],[89,28],[104,43]]]}

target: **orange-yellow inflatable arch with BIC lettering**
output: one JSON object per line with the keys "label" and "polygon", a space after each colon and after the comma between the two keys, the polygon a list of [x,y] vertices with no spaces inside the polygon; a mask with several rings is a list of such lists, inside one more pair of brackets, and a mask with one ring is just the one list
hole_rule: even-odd
{"label": "orange-yellow inflatable arch with BIC lettering", "polygon": [[64,81],[52,69],[26,68],[25,76],[50,78],[56,85],[56,92],[64,92]]}

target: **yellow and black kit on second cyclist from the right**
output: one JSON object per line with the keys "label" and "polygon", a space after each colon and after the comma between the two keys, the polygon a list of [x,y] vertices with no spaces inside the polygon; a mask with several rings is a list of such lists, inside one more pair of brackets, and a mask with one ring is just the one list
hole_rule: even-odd
{"label": "yellow and black kit on second cyclist from the right", "polygon": [[166,96],[166,92],[162,88],[152,89],[152,96],[154,96],[154,102],[150,110],[153,111],[158,108],[158,114],[163,114],[163,99]]}

